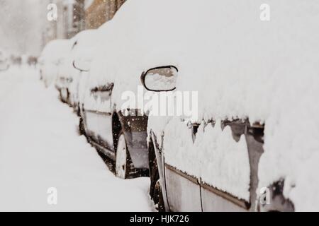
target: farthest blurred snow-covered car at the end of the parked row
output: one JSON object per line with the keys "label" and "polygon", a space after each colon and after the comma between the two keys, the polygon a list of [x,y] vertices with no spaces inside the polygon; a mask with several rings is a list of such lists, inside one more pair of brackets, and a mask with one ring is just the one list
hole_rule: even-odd
{"label": "farthest blurred snow-covered car at the end of the parked row", "polygon": [[46,87],[55,83],[61,60],[68,54],[69,43],[69,40],[52,40],[43,49],[38,63],[40,66],[40,78]]}

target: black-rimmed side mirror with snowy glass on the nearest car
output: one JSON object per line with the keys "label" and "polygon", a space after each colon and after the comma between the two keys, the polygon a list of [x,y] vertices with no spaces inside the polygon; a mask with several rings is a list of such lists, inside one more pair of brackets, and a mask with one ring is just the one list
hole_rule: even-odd
{"label": "black-rimmed side mirror with snowy glass on the nearest car", "polygon": [[177,67],[160,66],[143,72],[141,82],[149,91],[167,92],[176,89],[177,75]]}

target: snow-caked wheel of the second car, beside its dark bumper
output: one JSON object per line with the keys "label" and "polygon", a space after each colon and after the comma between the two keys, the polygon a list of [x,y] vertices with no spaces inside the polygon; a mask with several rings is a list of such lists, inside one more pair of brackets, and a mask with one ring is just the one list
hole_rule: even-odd
{"label": "snow-caked wheel of the second car, beside its dark bumper", "polygon": [[135,168],[128,152],[124,133],[121,132],[118,137],[116,148],[116,177],[128,179],[135,175]]}

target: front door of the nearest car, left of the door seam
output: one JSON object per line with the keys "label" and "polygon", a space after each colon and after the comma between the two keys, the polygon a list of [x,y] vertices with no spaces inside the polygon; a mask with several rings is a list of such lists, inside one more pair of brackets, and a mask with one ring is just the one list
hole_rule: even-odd
{"label": "front door of the nearest car, left of the door seam", "polygon": [[191,126],[177,118],[169,121],[165,129],[164,174],[167,201],[172,211],[202,210],[196,153],[191,151],[193,134]]}

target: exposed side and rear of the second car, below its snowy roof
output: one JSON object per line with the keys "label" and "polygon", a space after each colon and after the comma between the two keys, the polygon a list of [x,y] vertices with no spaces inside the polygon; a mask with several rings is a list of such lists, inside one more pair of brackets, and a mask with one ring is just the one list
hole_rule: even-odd
{"label": "exposed side and rear of the second car, below its snowy roof", "polygon": [[103,84],[89,83],[80,111],[80,129],[91,144],[116,162],[116,176],[126,179],[145,174],[147,117],[117,111],[112,101],[117,84]]}

